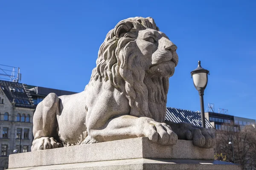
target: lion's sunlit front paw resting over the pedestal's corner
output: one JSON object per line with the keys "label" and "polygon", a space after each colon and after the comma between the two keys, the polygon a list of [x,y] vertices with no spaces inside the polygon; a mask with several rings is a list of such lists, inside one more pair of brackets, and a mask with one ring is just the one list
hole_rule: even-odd
{"label": "lion's sunlit front paw resting over the pedestal's corner", "polygon": [[161,145],[174,145],[177,143],[178,136],[174,133],[169,125],[166,123],[159,123],[149,118],[139,118],[144,119],[144,134],[152,142],[157,142]]}

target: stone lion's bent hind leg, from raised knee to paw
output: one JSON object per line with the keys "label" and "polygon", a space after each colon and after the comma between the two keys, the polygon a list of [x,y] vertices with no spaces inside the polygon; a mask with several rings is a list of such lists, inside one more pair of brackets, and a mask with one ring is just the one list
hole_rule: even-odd
{"label": "stone lion's bent hind leg, from raised knee to paw", "polygon": [[54,93],[50,93],[40,102],[36,108],[33,117],[33,135],[35,139],[32,142],[31,150],[45,150],[62,147],[57,142],[57,116],[59,112],[60,99]]}

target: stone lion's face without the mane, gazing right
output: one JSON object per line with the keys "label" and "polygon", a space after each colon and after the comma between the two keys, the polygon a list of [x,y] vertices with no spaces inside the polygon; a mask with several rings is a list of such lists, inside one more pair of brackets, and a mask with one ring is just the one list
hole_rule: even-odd
{"label": "stone lion's face without the mane, gazing right", "polygon": [[171,77],[178,63],[174,45],[163,32],[146,28],[138,32],[137,46],[143,54],[141,66],[151,76]]}

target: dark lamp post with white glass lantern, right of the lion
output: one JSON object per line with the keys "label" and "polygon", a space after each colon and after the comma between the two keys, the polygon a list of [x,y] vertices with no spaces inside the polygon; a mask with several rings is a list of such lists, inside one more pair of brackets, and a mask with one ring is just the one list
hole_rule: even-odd
{"label": "dark lamp post with white glass lantern, right of the lion", "polygon": [[202,127],[205,127],[204,119],[204,89],[207,86],[209,71],[201,67],[201,61],[198,61],[198,67],[191,71],[191,77],[193,78],[194,86],[198,90],[201,103],[201,121]]}

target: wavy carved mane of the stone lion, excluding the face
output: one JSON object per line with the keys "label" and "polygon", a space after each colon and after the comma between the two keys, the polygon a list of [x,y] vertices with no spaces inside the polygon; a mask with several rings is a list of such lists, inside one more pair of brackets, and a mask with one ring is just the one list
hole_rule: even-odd
{"label": "wavy carved mane of the stone lion, excluding the face", "polygon": [[151,17],[128,18],[109,31],[90,81],[110,81],[119,91],[125,89],[130,115],[164,122],[169,77],[148,75],[140,65],[141,56],[134,53],[138,31],[146,28],[159,31]]}

